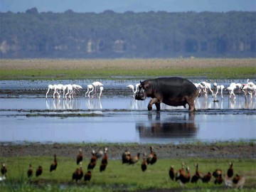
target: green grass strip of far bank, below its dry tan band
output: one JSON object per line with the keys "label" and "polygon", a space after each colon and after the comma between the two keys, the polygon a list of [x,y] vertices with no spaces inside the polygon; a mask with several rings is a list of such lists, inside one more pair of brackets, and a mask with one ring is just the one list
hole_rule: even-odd
{"label": "green grass strip of far bank, below its dry tan band", "polygon": [[69,79],[129,79],[159,76],[182,76],[186,78],[233,79],[253,78],[253,67],[218,68],[159,68],[129,70],[124,68],[105,68],[104,70],[0,70],[0,80],[69,80]]}

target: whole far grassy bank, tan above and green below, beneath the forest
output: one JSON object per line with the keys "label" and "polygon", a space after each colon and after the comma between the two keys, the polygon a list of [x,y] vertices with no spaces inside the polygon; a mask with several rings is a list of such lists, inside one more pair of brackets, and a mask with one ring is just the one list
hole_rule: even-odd
{"label": "whole far grassy bank, tan above and green below, beneath the forest", "polygon": [[255,78],[256,59],[0,60],[1,80]]}

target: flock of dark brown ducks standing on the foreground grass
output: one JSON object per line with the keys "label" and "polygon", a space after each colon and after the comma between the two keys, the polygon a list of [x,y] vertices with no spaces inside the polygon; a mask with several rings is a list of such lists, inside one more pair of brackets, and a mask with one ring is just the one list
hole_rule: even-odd
{"label": "flock of dark brown ducks standing on the foreground grass", "polygon": [[[139,156],[138,153],[135,156],[132,156],[129,150],[125,150],[122,154],[122,164],[127,165],[134,165],[139,162]],[[84,174],[84,171],[82,169],[82,161],[83,161],[83,155],[82,155],[82,149],[79,149],[78,156],[76,158],[76,164],[79,165],[79,168],[75,169],[75,171],[72,174],[72,179],[76,183],[80,183],[82,181],[82,178],[84,178],[84,181],[90,181],[92,178],[92,170],[95,169],[95,166],[97,164],[97,160],[102,158],[101,164],[100,164],[100,172],[105,171],[108,164],[108,157],[107,157],[107,147],[105,147],[104,151],[100,150],[95,152],[95,150],[92,150],[92,157],[90,159],[89,164],[87,165],[87,172]],[[154,152],[154,147],[150,146],[150,152],[149,154],[143,154],[143,161],[141,164],[142,171],[146,171],[147,166],[156,164],[157,156]],[[185,169],[185,164],[181,164],[181,169],[178,169],[178,171],[174,170],[174,166],[171,166],[169,169],[169,178],[171,181],[179,181],[181,186],[184,186],[186,183],[197,183],[198,181],[202,181],[203,183],[208,183],[211,181],[212,177],[214,177],[214,183],[215,184],[221,184],[225,183],[225,186],[234,187],[234,188],[242,188],[245,184],[245,177],[240,176],[238,174],[234,174],[233,170],[233,163],[230,162],[229,168],[227,171],[227,174],[223,175],[223,171],[221,169],[215,169],[213,171],[213,174],[210,174],[208,172],[207,174],[201,173],[198,169],[198,164],[196,164],[196,172],[191,176],[190,168],[187,166]],[[55,171],[58,166],[58,161],[56,158],[56,155],[54,154],[53,163],[50,164],[50,172]],[[1,179],[0,181],[4,181],[6,179],[6,165],[2,164],[1,166]],[[36,177],[41,176],[43,174],[43,167],[38,166],[38,169],[36,169]],[[28,178],[32,178],[33,176],[33,169],[31,164],[29,165],[28,171],[27,171]],[[223,178],[224,176],[224,178]]]}

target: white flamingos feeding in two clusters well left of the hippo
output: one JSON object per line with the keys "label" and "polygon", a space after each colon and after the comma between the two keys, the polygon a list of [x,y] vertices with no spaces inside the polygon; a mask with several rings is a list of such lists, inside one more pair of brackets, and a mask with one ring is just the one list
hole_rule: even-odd
{"label": "white flamingos feeding in two clusters well left of the hippo", "polygon": [[[85,92],[85,97],[88,94],[87,97],[90,98],[90,93],[93,92],[93,90],[95,90],[95,95],[96,95],[98,87],[100,87],[100,94],[99,94],[99,99],[100,99],[100,97],[102,96],[103,84],[98,81],[92,82],[92,85],[91,84],[87,85],[87,92]],[[46,92],[46,99],[47,99],[47,95],[50,92],[50,90],[54,90],[53,99],[55,99],[56,94],[57,94],[57,98],[60,99],[61,91],[63,91],[63,99],[67,100],[69,98],[71,100],[75,97],[76,92],[80,92],[80,90],[82,90],[82,86],[76,85],[76,84],[73,84],[73,85],[71,85],[71,84],[48,85],[48,90]],[[94,97],[95,95],[92,95],[92,97]]]}

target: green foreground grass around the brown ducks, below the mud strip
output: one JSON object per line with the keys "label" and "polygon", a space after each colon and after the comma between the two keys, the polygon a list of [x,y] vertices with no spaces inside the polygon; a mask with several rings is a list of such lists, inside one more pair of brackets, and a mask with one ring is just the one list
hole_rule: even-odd
{"label": "green foreground grass around the brown ducks, below the mud strip", "polygon": [[[71,180],[73,171],[78,167],[74,158],[58,157],[58,167],[56,171],[50,173],[52,157],[48,156],[26,156],[1,158],[0,162],[5,162],[8,169],[7,179],[0,183],[0,191],[114,191],[129,190],[141,191],[149,188],[181,188],[178,182],[170,181],[169,168],[174,165],[175,169],[181,168],[181,162],[191,168],[194,174],[194,164],[199,164],[201,172],[213,172],[220,168],[225,172],[228,170],[229,161],[233,162],[235,174],[245,176],[245,190],[254,191],[256,187],[256,160],[255,159],[159,159],[153,166],[148,166],[146,172],[142,172],[140,160],[134,166],[122,165],[120,160],[109,160],[105,172],[100,173],[100,161],[97,162],[95,170],[92,172],[90,183],[74,183]],[[83,170],[86,170],[88,158],[83,162]],[[31,181],[26,177],[28,164],[32,164],[34,173],[38,165],[43,166],[43,175]],[[63,186],[63,190],[60,190]],[[224,184],[215,186],[213,180],[210,183],[188,183],[185,188],[195,189],[195,191],[223,191]]]}

